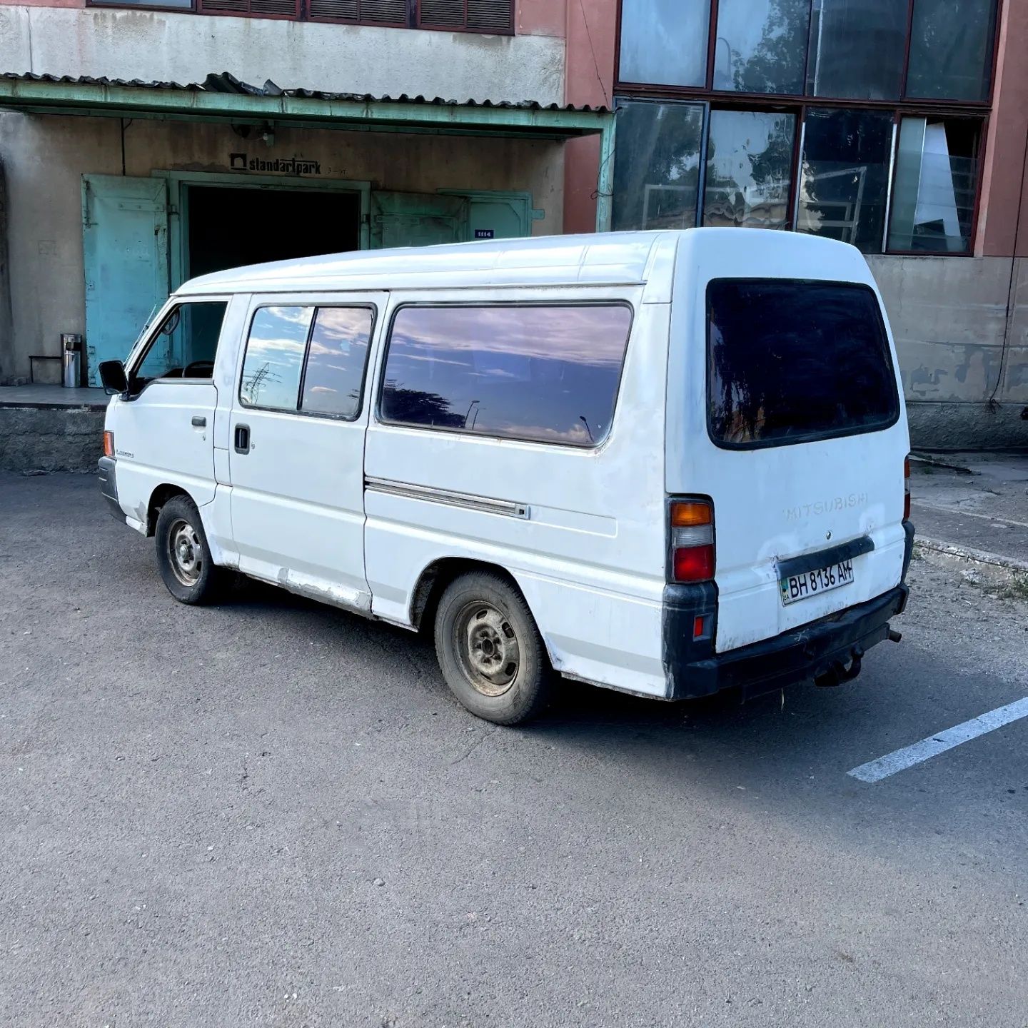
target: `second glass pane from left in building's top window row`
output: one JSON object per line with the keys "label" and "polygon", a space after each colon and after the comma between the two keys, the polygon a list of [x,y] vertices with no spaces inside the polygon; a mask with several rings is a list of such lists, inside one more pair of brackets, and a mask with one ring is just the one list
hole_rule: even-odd
{"label": "second glass pane from left in building's top window row", "polygon": [[721,0],[713,87],[803,93],[810,0]]}

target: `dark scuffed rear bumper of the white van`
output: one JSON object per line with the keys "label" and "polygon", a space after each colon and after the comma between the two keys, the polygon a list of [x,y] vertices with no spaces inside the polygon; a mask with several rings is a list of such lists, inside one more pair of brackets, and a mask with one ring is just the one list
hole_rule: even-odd
{"label": "dark scuffed rear bumper of the white van", "polygon": [[[898,585],[884,595],[830,615],[774,638],[750,646],[696,659],[697,645],[692,642],[693,604],[685,604],[688,618],[674,616],[665,603],[664,668],[668,698],[691,699],[709,696],[723,689],[738,688],[742,698],[781,689],[798,682],[840,681],[839,670],[859,669],[859,661],[876,642],[889,635],[889,618],[903,614],[908,588]],[[671,615],[669,617],[669,615]],[[688,621],[688,626],[684,623]],[[689,627],[689,641],[676,645],[668,629],[673,623]],[[677,634],[676,632],[674,634]],[[834,684],[834,683],[833,683]]]}

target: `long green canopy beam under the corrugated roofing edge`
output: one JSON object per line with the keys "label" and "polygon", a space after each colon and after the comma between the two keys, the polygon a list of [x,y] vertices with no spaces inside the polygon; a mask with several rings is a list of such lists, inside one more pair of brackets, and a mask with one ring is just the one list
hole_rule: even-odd
{"label": "long green canopy beam under the corrugated roofing edge", "polygon": [[[428,101],[329,100],[146,85],[50,82],[0,78],[0,108],[47,114],[155,117],[184,120],[289,122],[372,132],[460,133],[571,139],[608,133],[609,111],[489,107]],[[602,190],[601,190],[602,193]]]}

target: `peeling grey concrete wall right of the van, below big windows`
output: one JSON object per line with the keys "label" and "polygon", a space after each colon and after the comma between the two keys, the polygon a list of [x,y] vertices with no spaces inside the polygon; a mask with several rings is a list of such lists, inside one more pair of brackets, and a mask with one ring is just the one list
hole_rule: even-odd
{"label": "peeling grey concrete wall right of the van, below big windows", "polygon": [[868,263],[895,337],[914,445],[1028,446],[1028,260]]}

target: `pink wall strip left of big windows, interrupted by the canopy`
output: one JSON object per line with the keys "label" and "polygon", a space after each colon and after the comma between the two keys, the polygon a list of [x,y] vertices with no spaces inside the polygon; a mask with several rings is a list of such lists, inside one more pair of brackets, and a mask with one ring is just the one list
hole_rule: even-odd
{"label": "pink wall strip left of big windows, interrupted by the canopy", "polygon": [[[614,99],[617,0],[567,0],[568,104],[610,107]],[[564,150],[564,231],[596,227],[599,137],[572,140]]]}

